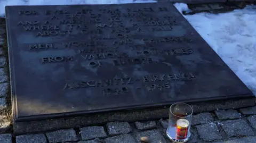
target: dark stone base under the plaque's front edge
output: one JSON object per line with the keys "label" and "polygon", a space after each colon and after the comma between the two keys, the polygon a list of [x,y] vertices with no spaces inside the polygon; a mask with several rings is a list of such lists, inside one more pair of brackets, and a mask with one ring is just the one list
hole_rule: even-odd
{"label": "dark stone base under the plaque's front edge", "polygon": [[[190,103],[193,113],[211,112],[215,110],[228,110],[255,105],[254,96],[243,99],[214,100],[211,102]],[[107,113],[94,113],[83,116],[62,117],[58,119],[14,122],[14,134],[30,132],[44,132],[49,130],[79,128],[86,125],[99,125],[114,121],[148,121],[169,116],[169,106],[147,108],[143,110],[117,111]]]}

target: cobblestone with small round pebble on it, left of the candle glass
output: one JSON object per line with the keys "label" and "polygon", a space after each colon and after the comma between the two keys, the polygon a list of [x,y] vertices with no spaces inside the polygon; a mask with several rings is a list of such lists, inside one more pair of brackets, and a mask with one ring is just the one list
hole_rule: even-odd
{"label": "cobblestone with small round pebble on it, left of the candle glass", "polygon": [[137,134],[137,141],[140,142],[141,137],[148,137],[150,143],[165,143],[164,136],[158,130],[143,131]]}

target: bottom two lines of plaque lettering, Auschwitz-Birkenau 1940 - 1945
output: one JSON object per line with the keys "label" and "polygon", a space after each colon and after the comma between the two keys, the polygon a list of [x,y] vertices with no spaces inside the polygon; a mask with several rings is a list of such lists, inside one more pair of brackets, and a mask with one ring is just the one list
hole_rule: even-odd
{"label": "bottom two lines of plaque lettering, Auschwitz-Birkenau 1940 - 1945", "polygon": [[[193,73],[171,73],[171,74],[155,74],[144,75],[140,78],[113,78],[106,80],[89,80],[89,81],[73,81],[65,83],[63,90],[68,89],[82,89],[82,88],[100,88],[103,95],[119,95],[127,94],[131,92],[128,85],[134,85],[134,83],[144,83],[145,86],[142,89],[147,91],[155,90],[169,90],[171,88],[170,82],[174,80],[193,80],[196,79]],[[162,81],[162,82],[161,82]],[[140,89],[140,88],[137,88]]]}

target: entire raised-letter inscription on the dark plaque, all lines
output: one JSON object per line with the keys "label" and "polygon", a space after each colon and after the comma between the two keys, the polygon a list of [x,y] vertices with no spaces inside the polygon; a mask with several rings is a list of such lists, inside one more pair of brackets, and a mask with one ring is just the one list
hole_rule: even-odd
{"label": "entire raised-letter inscription on the dark plaque, all lines", "polygon": [[[166,13],[159,14],[153,13]],[[175,16],[168,14],[167,7],[141,7],[129,9],[99,9],[90,7],[70,10],[45,10],[44,12],[20,11],[20,15],[44,15],[45,21],[25,19],[18,22],[18,27],[26,33],[33,33],[36,38],[63,38],[58,43],[27,44],[29,52],[73,51],[74,55],[57,56],[47,54],[40,58],[46,64],[71,63],[83,65],[83,70],[101,71],[109,69],[151,66],[164,62],[167,57],[190,56],[195,51],[188,46],[175,44],[191,43],[193,39],[187,36],[173,35],[173,26],[180,23]],[[166,36],[154,36],[166,34]],[[169,35],[170,33],[170,35]],[[70,40],[69,40],[70,38]],[[77,39],[76,39],[77,38]],[[75,41],[77,40],[77,41]],[[168,45],[168,46],[166,46]],[[159,60],[159,57],[161,60]],[[172,61],[169,61],[172,63]],[[138,68],[139,67],[139,68]],[[90,71],[92,72],[92,71]],[[93,71],[95,72],[95,71]],[[113,71],[116,72],[116,71]],[[108,73],[106,73],[107,75]],[[65,83],[63,90],[100,88],[102,95],[131,94],[132,86],[139,83],[142,87],[136,89],[146,91],[170,90],[170,82],[193,80],[192,73],[151,74],[141,77],[110,78],[97,80],[70,81]],[[98,89],[97,89],[98,90]]]}

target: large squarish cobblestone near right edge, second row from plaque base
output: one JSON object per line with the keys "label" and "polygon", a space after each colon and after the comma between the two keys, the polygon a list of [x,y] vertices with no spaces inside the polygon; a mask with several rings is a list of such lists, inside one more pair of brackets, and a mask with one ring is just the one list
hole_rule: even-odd
{"label": "large squarish cobblestone near right edge, second row from plaque base", "polygon": [[242,119],[223,121],[221,127],[228,137],[253,135],[251,127]]}

